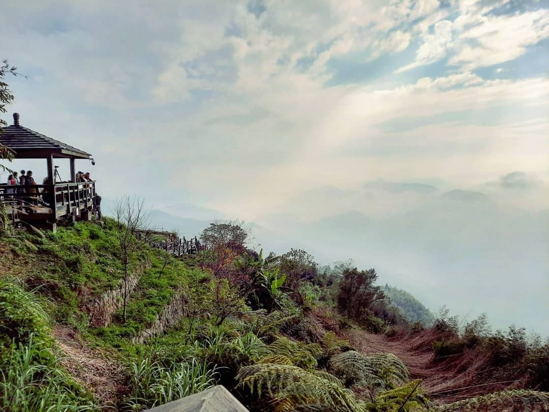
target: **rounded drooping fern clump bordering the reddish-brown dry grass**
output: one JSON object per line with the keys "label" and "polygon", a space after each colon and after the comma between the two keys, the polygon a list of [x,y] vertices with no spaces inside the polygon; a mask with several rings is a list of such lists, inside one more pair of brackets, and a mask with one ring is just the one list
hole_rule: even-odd
{"label": "rounded drooping fern clump bordering the reddish-brown dry grass", "polygon": [[406,365],[392,353],[363,355],[349,350],[328,361],[328,371],[345,382],[345,386],[366,388],[371,398],[408,381]]}

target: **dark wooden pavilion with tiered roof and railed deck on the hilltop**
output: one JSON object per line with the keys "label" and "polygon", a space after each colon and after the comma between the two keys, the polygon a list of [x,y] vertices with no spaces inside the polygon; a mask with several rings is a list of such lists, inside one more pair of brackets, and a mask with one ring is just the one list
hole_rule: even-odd
{"label": "dark wooden pavilion with tiered roof and railed deck on the hilltop", "polygon": [[[89,220],[96,182],[75,182],[74,179],[75,160],[89,160],[91,154],[21,126],[18,113],[13,114],[13,120],[13,125],[3,127],[0,143],[13,152],[15,159],[46,159],[47,166],[47,180],[31,188],[0,185],[0,201],[10,207],[13,219],[54,231],[59,220]],[[58,158],[69,159],[72,181],[55,179],[54,159]]]}

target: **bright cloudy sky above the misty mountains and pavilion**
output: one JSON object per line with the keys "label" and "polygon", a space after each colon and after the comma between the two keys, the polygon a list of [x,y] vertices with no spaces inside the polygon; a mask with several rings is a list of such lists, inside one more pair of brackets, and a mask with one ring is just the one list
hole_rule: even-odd
{"label": "bright cloudy sky above the misty mountains and pavilion", "polygon": [[[290,231],[350,211],[428,210],[451,191],[549,209],[548,0],[1,9],[0,58],[27,76],[8,79],[10,112],[92,153],[96,165],[77,168],[105,197]],[[25,162],[15,167],[45,173]]]}

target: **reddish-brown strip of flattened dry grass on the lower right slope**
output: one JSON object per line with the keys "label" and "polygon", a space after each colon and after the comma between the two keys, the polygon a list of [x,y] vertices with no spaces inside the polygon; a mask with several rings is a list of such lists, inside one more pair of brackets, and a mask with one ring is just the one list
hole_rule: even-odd
{"label": "reddish-brown strip of flattened dry grass on the lower right slope", "polygon": [[[479,357],[463,371],[449,368],[447,364],[433,363],[433,351],[413,349],[412,343],[403,339],[391,341],[383,335],[373,335],[353,330],[345,333],[352,346],[362,353],[390,352],[399,357],[408,367],[414,379],[422,380],[422,389],[440,403],[451,403],[501,389],[494,385],[474,385],[475,377],[484,372],[485,359]],[[488,356],[488,354],[486,354]]]}

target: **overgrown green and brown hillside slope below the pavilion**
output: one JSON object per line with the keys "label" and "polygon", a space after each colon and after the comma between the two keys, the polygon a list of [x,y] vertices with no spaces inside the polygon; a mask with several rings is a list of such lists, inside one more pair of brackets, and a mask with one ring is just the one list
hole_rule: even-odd
{"label": "overgrown green and brown hillside slope below the pavilion", "polygon": [[337,312],[333,286],[302,280],[284,292],[298,260],[244,254],[220,276],[206,269],[209,250],[176,260],[142,245],[125,278],[118,227],[107,219],[0,238],[0,410],[143,410],[216,384],[250,410],[549,407],[546,393],[532,391],[449,404],[547,381],[495,383],[503,372],[479,374],[488,358],[468,360],[475,350],[489,357],[480,347],[441,361],[434,342],[460,337],[440,322],[415,332],[401,325],[392,340],[372,335]]}

